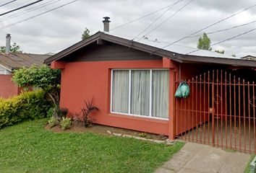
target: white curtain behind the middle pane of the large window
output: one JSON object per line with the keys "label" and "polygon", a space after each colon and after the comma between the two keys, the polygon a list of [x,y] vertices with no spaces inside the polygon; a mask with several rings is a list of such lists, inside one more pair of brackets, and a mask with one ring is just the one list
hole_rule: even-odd
{"label": "white curtain behind the middle pane of the large window", "polygon": [[132,71],[131,113],[149,116],[150,110],[150,71]]}

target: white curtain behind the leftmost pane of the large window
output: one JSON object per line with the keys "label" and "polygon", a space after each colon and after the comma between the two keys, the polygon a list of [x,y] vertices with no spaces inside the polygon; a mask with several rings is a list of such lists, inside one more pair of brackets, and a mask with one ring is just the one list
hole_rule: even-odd
{"label": "white curtain behind the leftmost pane of the large window", "polygon": [[112,111],[128,113],[129,109],[129,71],[113,71]]}

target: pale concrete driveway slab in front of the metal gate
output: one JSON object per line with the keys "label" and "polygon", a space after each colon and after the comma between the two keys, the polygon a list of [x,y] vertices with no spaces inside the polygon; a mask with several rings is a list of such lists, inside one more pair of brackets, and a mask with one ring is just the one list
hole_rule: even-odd
{"label": "pale concrete driveway slab in front of the metal gate", "polygon": [[242,173],[249,159],[249,154],[223,151],[221,148],[198,143],[186,143],[155,173]]}

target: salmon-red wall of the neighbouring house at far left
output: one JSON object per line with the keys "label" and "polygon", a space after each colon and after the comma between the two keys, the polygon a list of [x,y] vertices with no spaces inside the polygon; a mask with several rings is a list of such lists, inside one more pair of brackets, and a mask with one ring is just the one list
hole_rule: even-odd
{"label": "salmon-red wall of the neighbouring house at far left", "polygon": [[12,81],[12,74],[0,74],[0,97],[9,98],[19,94],[19,87]]}

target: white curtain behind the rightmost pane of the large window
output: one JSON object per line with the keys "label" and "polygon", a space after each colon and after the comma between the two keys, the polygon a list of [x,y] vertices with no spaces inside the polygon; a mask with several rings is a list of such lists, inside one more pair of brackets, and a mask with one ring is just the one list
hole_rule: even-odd
{"label": "white curtain behind the rightmost pane of the large window", "polygon": [[168,118],[169,71],[152,71],[152,117]]}

